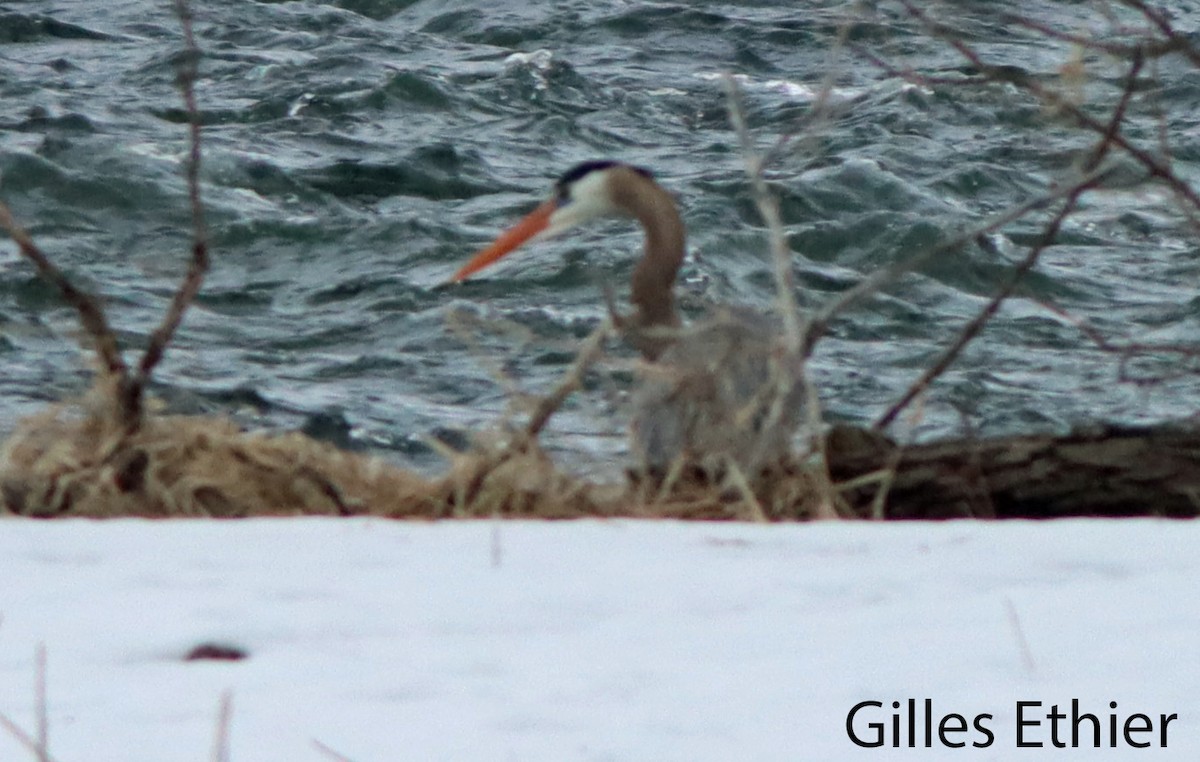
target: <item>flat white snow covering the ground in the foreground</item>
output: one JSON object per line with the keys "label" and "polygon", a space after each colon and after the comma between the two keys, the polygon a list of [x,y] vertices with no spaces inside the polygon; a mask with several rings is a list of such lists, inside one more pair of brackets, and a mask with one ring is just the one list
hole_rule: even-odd
{"label": "flat white snow covering the ground in the foreground", "polygon": [[[235,762],[1200,760],[1198,550],[1165,521],[4,520],[0,713],[34,731],[44,643],[58,762],[210,760],[226,690]],[[248,656],[184,660],[205,642]],[[1102,749],[1086,718],[1052,746],[1072,700]],[[883,748],[850,740],[864,701]]]}

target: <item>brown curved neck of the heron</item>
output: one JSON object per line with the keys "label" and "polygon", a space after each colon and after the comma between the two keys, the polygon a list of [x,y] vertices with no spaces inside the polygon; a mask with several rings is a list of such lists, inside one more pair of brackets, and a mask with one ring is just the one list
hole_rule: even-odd
{"label": "brown curved neck of the heron", "polygon": [[[674,328],[674,282],[683,265],[686,232],[671,194],[632,169],[613,178],[613,203],[632,215],[646,232],[646,247],[630,281],[635,328]],[[670,341],[638,341],[642,354],[655,359]]]}

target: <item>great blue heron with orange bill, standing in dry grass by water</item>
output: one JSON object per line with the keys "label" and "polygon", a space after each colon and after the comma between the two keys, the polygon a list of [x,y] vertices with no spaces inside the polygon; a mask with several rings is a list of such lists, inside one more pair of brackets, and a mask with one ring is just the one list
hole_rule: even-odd
{"label": "great blue heron with orange bill, standing in dry grass by water", "polygon": [[[706,472],[728,463],[757,472],[782,458],[800,418],[794,384],[779,384],[781,353],[762,316],[722,316],[680,328],[674,282],[685,230],[674,199],[646,169],[587,162],[564,174],[554,194],[479,252],[455,275],[461,281],[535,238],[589,220],[637,220],[646,233],[631,277],[635,312],[623,320],[630,343],[649,361],[635,392],[634,449],[644,470],[674,464]],[[782,395],[778,394],[782,390]]]}

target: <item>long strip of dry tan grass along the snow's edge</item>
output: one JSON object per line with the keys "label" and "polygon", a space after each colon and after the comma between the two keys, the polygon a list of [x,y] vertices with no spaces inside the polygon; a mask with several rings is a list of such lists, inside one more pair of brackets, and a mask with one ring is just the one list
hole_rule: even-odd
{"label": "long strip of dry tan grass along the snow's edge", "polygon": [[[677,475],[670,484],[595,484],[538,446],[478,444],[426,479],[305,434],[241,431],[227,419],[146,412],[128,434],[107,402],[106,376],[86,397],[17,426],[0,449],[0,497],[31,517],[374,515],[395,518],[586,516],[802,518],[805,469],[739,484]],[[751,486],[752,485],[752,486]],[[748,490],[752,494],[748,493]]]}

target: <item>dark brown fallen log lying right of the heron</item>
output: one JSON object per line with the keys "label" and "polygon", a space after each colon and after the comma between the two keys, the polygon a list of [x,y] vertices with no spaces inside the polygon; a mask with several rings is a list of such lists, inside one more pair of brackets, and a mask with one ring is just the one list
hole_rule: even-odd
{"label": "dark brown fallen log lying right of the heron", "polygon": [[[887,518],[1200,516],[1200,428],[1096,426],[899,446],[836,428],[829,470],[842,497]],[[876,478],[864,478],[876,474]]]}

